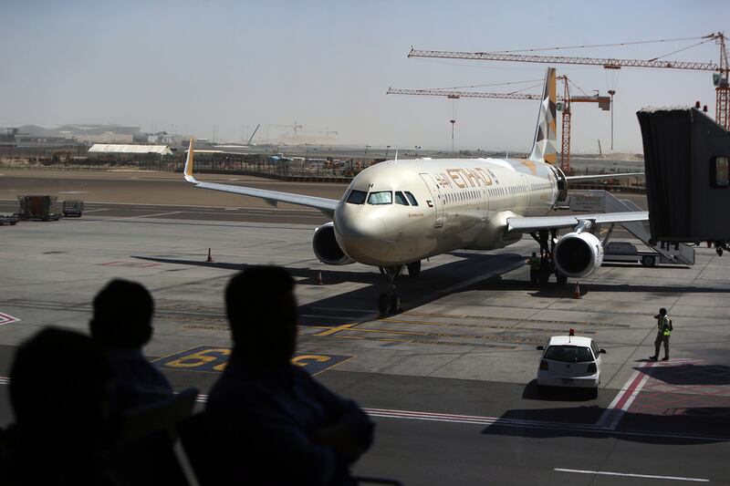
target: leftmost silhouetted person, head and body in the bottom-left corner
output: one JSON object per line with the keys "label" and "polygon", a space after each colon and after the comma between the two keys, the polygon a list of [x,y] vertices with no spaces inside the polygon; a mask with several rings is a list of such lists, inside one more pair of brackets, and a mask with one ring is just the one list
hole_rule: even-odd
{"label": "leftmost silhouetted person, head and body in the bottom-left corner", "polygon": [[117,484],[101,460],[115,412],[111,368],[89,336],[51,327],[26,340],[9,391],[16,422],[0,484]]}

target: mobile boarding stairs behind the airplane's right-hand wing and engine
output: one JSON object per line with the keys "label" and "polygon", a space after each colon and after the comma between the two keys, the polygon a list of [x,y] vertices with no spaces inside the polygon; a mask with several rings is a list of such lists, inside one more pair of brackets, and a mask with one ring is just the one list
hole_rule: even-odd
{"label": "mobile boarding stairs behind the airplane's right-hand wing and engine", "polygon": [[[570,211],[588,212],[632,212],[643,211],[628,199],[619,199],[609,191],[570,191],[568,199]],[[651,218],[651,215],[650,215]],[[656,243],[652,240],[650,222],[621,222],[626,231],[636,236],[646,246],[663,257],[663,262],[694,265],[694,248],[685,243]],[[610,236],[610,233],[609,233]],[[604,246],[609,238],[604,239]],[[653,243],[653,244],[652,244]]]}

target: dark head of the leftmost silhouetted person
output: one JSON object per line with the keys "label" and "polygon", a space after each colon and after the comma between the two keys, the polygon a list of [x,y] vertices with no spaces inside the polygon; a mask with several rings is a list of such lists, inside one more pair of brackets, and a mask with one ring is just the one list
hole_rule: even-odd
{"label": "dark head of the leftmost silhouetted person", "polygon": [[106,358],[89,336],[73,331],[40,331],[17,348],[10,367],[17,424],[45,445],[98,447],[110,424],[113,390]]}

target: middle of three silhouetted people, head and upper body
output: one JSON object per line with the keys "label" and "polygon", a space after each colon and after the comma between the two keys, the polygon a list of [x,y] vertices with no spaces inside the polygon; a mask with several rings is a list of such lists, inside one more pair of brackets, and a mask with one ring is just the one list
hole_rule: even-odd
{"label": "middle of three silhouetted people, head and upper body", "polygon": [[154,302],[144,286],[112,280],[94,298],[91,338],[114,370],[120,410],[172,396],[167,378],[142,355],[152,336]]}

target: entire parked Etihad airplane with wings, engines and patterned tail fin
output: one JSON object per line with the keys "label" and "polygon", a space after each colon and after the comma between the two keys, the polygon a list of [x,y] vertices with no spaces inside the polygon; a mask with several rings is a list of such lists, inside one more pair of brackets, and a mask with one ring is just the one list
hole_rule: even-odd
{"label": "entire parked Etihad airplane with wings, engines and patterned tail fin", "polygon": [[[647,221],[648,212],[548,215],[564,202],[570,181],[617,176],[567,177],[555,162],[555,68],[548,67],[532,152],[527,159],[387,160],[361,171],[339,201],[280,191],[197,181],[193,139],[185,181],[195,187],[318,209],[332,219],[316,229],[312,249],[324,264],[358,262],[381,269],[387,292],[381,314],[401,309],[394,280],[404,268],[411,276],[422,260],[455,250],[495,250],[530,234],[556,268],[558,284],[592,274],[603,262],[595,232],[600,223]],[[559,239],[558,229],[571,228]]]}

